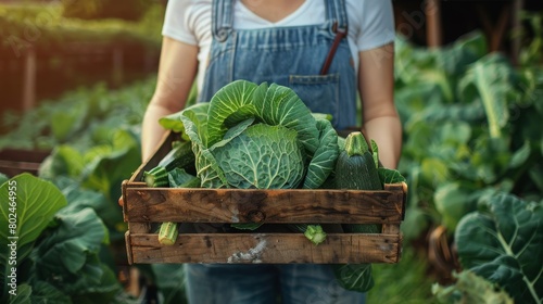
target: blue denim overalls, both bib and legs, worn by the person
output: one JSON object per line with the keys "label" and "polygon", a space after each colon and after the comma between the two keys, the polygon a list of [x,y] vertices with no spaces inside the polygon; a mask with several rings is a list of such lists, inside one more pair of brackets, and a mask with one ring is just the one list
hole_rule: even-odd
{"label": "blue denim overalls, both bib and legs, worn by the person", "polygon": [[[316,0],[306,0],[316,1]],[[332,115],[340,130],[356,125],[356,77],[351,50],[342,39],[328,73],[320,75],[336,37],[346,30],[343,0],[326,3],[323,24],[265,29],[233,29],[233,0],[213,1],[213,43],[199,101],[225,85],[247,79],[292,88],[305,104]],[[328,265],[186,264],[189,303],[365,303],[365,294],[338,286]]]}

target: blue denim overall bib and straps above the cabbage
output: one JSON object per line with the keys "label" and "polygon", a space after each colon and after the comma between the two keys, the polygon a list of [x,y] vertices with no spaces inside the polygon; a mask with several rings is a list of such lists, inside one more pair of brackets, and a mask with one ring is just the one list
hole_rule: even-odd
{"label": "blue denim overall bib and straps above the cabbage", "polygon": [[[312,0],[315,1],[315,0]],[[332,115],[336,129],[356,125],[356,75],[342,39],[326,75],[320,68],[336,30],[346,30],[343,0],[326,3],[323,24],[265,29],[233,29],[233,1],[213,2],[213,43],[199,101],[210,101],[225,85],[245,79],[292,88],[312,112]]]}

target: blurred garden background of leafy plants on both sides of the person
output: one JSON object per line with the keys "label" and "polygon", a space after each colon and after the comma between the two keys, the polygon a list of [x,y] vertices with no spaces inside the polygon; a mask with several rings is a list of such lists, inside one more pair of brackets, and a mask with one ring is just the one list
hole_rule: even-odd
{"label": "blurred garden background of leafy plants on both sides of the person", "polygon": [[[13,303],[186,302],[179,265],[128,265],[117,203],[166,3],[0,1],[0,217],[15,176],[39,195],[18,207],[42,215],[24,224],[41,232],[20,239]],[[543,2],[393,3],[409,192],[402,259],[374,265],[368,303],[542,303]]]}

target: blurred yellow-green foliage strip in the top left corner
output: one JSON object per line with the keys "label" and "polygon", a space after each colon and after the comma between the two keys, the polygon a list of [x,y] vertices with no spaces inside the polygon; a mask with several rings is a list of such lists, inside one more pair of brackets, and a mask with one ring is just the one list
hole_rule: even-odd
{"label": "blurred yellow-green foliage strip in the top left corner", "polygon": [[[66,1],[72,7],[93,7],[94,1]],[[119,7],[117,12],[135,15],[142,13],[137,21],[124,20],[78,20],[63,16],[63,7],[59,1],[47,4],[0,5],[0,50],[12,51],[16,56],[24,50],[49,48],[74,42],[91,42],[94,46],[113,43],[134,43],[157,49],[162,40],[161,28],[164,20],[164,7],[160,3],[143,7],[138,1],[123,4],[125,1],[108,1]],[[132,3],[134,2],[134,3]],[[146,2],[141,0],[140,2]],[[104,8],[105,9],[105,8]],[[94,10],[89,8],[90,11]],[[115,14],[115,12],[111,11]]]}

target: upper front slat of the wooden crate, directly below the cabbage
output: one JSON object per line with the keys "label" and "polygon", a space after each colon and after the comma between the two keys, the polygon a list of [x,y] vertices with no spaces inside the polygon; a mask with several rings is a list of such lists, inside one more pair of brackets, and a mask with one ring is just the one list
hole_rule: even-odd
{"label": "upper front slat of the wooden crate, directly below the cabbage", "polygon": [[395,191],[168,189],[125,187],[125,220],[181,223],[394,224]]}

